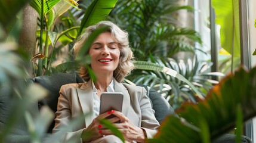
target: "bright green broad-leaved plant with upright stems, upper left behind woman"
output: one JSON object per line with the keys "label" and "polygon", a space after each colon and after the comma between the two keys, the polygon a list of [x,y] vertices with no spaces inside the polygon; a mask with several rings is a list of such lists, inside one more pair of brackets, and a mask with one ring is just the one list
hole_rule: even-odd
{"label": "bright green broad-leaved plant with upright stems, upper left behind woman", "polygon": [[[82,9],[84,10],[82,13],[84,14],[84,17],[81,21],[77,19],[79,16],[73,16],[75,11],[79,10],[76,1],[44,0],[44,2],[41,3],[41,1],[35,0],[30,2],[30,5],[38,11],[39,15],[41,15],[39,18],[40,31],[38,32],[39,54],[36,54],[35,57],[33,57],[34,60],[39,59],[38,66],[36,66],[38,69],[36,76],[51,74],[57,70],[63,69],[53,69],[51,67],[51,63],[55,60],[56,51],[60,51],[61,48],[70,45],[70,43],[72,45],[73,40],[80,35],[85,27],[104,20],[112,8],[115,7],[116,2],[117,0],[108,1],[107,3],[102,0],[92,1],[90,5],[86,7],[86,10]],[[70,7],[72,6],[76,8],[75,11],[70,10]],[[65,14],[66,11],[69,11],[70,15],[60,17],[60,15]],[[60,20],[61,22],[58,21],[58,23],[55,24],[56,20]],[[64,29],[61,28],[61,26],[65,26]],[[50,47],[51,53],[48,53]],[[71,46],[69,47],[69,50],[70,49]],[[44,53],[42,53],[43,51]],[[41,58],[44,58],[44,61],[42,61]],[[73,57],[66,60],[73,60]],[[64,65],[70,64],[65,63]],[[63,67],[63,64],[61,66]]]}

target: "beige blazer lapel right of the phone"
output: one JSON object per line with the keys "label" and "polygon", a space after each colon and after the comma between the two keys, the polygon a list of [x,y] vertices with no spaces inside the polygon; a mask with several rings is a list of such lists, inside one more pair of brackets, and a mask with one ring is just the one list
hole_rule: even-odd
{"label": "beige blazer lapel right of the phone", "polygon": [[129,111],[129,105],[130,105],[130,97],[129,97],[129,92],[127,88],[125,88],[122,83],[119,83],[118,81],[115,80],[115,92],[122,92],[124,94],[124,100],[122,104],[122,113],[125,116],[128,116],[128,111]]}

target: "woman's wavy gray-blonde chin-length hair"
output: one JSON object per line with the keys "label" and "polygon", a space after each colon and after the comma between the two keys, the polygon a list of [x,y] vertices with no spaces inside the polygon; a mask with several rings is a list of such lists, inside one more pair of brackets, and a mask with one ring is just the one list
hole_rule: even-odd
{"label": "woman's wavy gray-blonde chin-length hair", "polygon": [[[78,37],[73,47],[75,56],[78,55],[78,52],[84,45],[85,41],[87,41],[91,33],[105,26],[108,27],[106,32],[110,32],[112,34],[112,38],[118,42],[120,57],[118,67],[114,70],[113,77],[115,77],[118,82],[122,82],[125,76],[131,73],[131,70],[134,69],[134,64],[132,62],[134,57],[131,48],[129,47],[128,33],[124,30],[121,30],[118,26],[116,26],[116,24],[110,21],[100,21],[95,25],[87,27],[85,32]],[[85,66],[81,66],[78,73],[86,82],[91,79],[88,73],[88,69]]]}

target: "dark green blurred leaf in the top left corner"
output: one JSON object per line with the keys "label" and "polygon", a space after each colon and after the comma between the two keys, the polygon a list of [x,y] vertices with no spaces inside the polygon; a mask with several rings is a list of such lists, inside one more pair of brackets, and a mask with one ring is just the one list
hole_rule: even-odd
{"label": "dark green blurred leaf in the top left corner", "polygon": [[5,27],[11,20],[16,18],[16,14],[30,0],[1,0],[0,1],[0,23]]}

